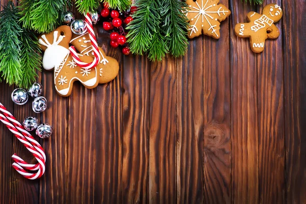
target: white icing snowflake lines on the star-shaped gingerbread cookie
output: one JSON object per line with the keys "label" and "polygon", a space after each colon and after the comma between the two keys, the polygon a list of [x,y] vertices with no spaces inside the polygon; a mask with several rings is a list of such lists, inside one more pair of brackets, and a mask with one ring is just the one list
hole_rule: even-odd
{"label": "white icing snowflake lines on the star-shaped gingerbread cookie", "polygon": [[[206,21],[210,25],[210,28],[208,29],[208,31],[212,30],[212,33],[214,33],[217,37],[219,37],[218,34],[216,33],[217,30],[215,29],[215,27],[217,27],[217,25],[212,25],[211,22],[208,20],[208,17],[211,18],[211,19],[214,19],[209,13],[216,13],[219,16],[221,16],[221,14],[225,15],[225,13],[228,13],[228,11],[225,11],[224,9],[221,11],[222,6],[219,7],[218,11],[207,11],[209,8],[211,8],[213,6],[216,6],[216,4],[207,5],[207,3],[208,3],[208,0],[206,0],[205,5],[203,6],[203,0],[201,0],[201,6],[200,6],[197,2],[195,2],[195,4],[197,5],[197,8],[196,7],[192,7],[192,8],[195,9],[196,11],[192,11],[192,10],[185,11],[186,16],[188,15],[188,13],[197,13],[194,17],[194,18],[196,18],[196,21],[193,24],[189,25],[190,28],[188,30],[191,31],[190,36],[192,35],[192,33],[196,33],[198,31],[198,29],[196,28],[196,23],[201,16],[202,23],[204,22],[204,19],[206,19]],[[193,18],[191,19],[191,21],[193,21]]]}

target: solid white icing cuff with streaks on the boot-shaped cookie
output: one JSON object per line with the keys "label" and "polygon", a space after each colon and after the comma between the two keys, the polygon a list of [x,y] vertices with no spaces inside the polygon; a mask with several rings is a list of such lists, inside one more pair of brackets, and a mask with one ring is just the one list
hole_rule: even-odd
{"label": "solid white icing cuff with streaks on the boot-shaped cookie", "polygon": [[69,54],[69,49],[58,45],[64,38],[64,35],[58,37],[58,31],[53,33],[53,43],[50,44],[45,35],[39,38],[39,44],[47,47],[42,59],[42,66],[46,70],[53,69],[61,64],[64,58]]}

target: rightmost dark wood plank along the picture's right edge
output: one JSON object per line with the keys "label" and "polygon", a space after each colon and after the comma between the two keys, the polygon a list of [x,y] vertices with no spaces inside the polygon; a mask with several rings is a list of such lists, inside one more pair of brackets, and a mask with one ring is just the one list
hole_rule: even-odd
{"label": "rightmost dark wood plank along the picture's right edge", "polygon": [[286,193],[288,203],[306,203],[305,2],[283,1]]}

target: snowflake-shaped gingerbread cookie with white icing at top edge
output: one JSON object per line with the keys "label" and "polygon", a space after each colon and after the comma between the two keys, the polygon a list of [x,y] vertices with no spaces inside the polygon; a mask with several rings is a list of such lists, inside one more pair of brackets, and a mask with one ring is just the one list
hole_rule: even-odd
{"label": "snowflake-shaped gingerbread cookie with white icing at top edge", "polygon": [[188,37],[194,38],[201,33],[220,38],[220,22],[231,15],[231,11],[219,0],[187,0],[188,8],[183,11],[189,19]]}

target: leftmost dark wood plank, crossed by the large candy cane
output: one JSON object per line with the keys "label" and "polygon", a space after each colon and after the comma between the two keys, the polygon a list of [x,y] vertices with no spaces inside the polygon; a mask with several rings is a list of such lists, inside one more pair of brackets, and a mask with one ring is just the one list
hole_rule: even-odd
{"label": "leftmost dark wood plank, crossed by the large candy cane", "polygon": [[[0,103],[2,103],[10,113],[14,112],[14,105],[11,99],[11,93],[14,86],[9,86],[5,82],[0,83]],[[9,129],[0,122],[0,203],[11,203],[12,191],[12,155],[13,152],[13,138],[15,137]]]}

